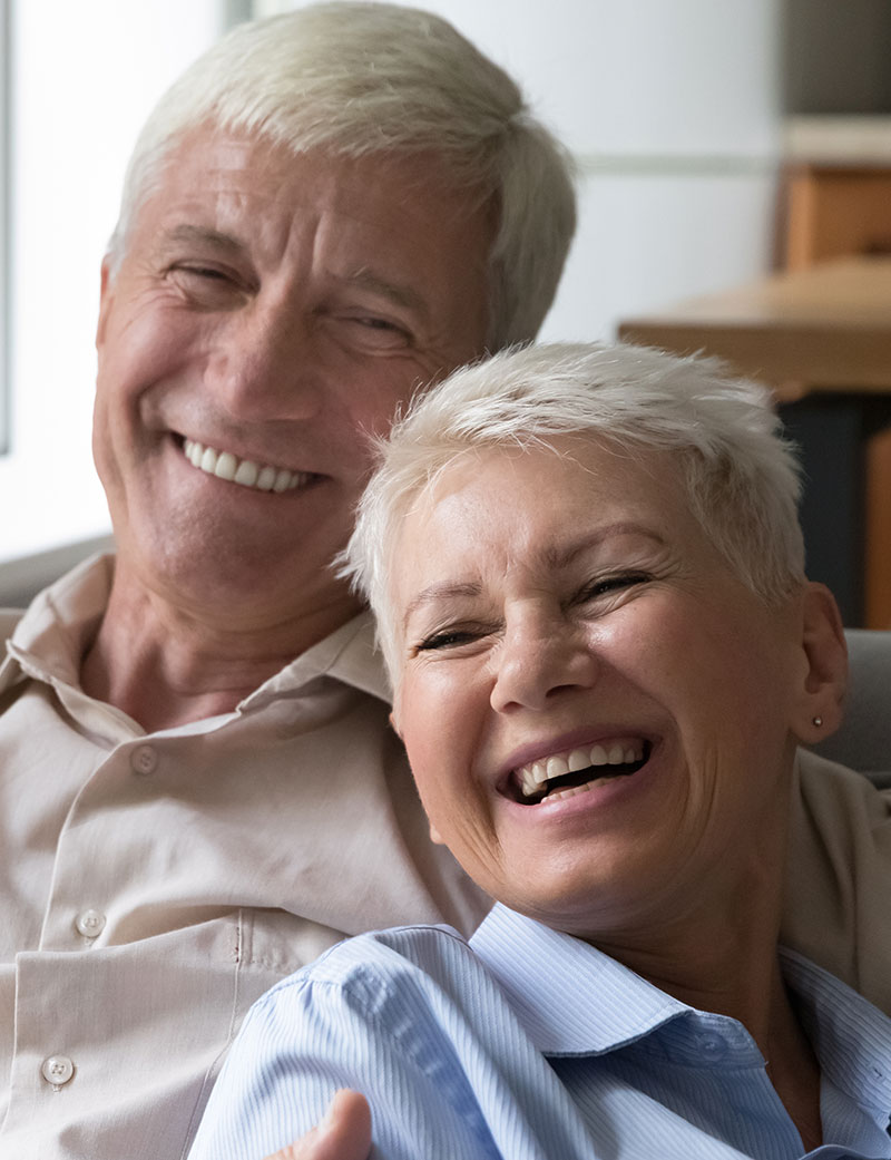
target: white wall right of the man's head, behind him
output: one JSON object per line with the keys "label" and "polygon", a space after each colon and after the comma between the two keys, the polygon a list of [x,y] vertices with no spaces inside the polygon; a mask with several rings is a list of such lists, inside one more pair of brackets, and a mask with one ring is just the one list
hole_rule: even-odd
{"label": "white wall right of the man's head, behind him", "polygon": [[542,338],[610,338],[623,316],[768,268],[781,0],[418,3],[517,77],[580,164],[579,234]]}

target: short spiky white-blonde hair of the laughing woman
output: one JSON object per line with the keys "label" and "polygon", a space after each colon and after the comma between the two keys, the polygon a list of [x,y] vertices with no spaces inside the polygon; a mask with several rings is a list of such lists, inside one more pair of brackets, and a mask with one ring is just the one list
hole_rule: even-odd
{"label": "short spiky white-blonde hair of the laughing woman", "polygon": [[390,577],[413,503],[462,456],[549,447],[560,435],[591,436],[631,458],[671,452],[690,510],[744,583],[775,603],[804,582],[799,467],[763,387],[716,360],[628,345],[502,351],[418,397],[378,441],[341,563],[377,617],[394,688],[401,665]]}

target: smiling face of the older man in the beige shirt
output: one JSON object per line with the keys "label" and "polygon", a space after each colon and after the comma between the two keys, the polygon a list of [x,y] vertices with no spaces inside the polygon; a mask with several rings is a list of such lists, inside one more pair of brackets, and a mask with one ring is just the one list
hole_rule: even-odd
{"label": "smiling face of the older man in the beige shirt", "polygon": [[103,270],[94,456],[121,577],[240,623],[349,615],[327,565],[367,436],[485,342],[491,215],[446,177],[209,128],[172,151]]}

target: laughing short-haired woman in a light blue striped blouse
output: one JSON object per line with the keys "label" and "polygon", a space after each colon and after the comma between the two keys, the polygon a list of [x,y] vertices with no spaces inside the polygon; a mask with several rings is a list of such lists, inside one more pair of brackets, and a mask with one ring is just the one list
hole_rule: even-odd
{"label": "laughing short-haired woman in a light blue striped blouse", "polygon": [[499,356],[394,429],[349,568],[432,832],[498,905],[271,991],[196,1160],[345,1086],[392,1160],[891,1157],[891,1020],[778,945],[846,670],[797,492],[759,389],[626,347]]}

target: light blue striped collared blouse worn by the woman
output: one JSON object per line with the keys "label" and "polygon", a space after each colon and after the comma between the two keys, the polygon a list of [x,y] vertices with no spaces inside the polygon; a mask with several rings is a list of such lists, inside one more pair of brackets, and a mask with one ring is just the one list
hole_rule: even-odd
{"label": "light blue striped collared blouse worn by the woman", "polygon": [[[801,1137],[737,1021],[497,906],[334,947],[251,1010],[190,1160],[261,1160],[369,1096],[389,1160],[798,1160]],[[823,1071],[820,1160],[891,1158],[891,1020],[784,955]]]}

